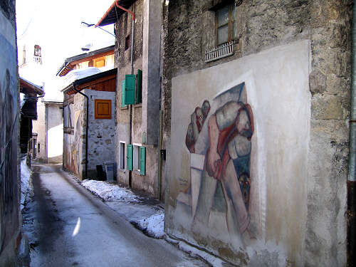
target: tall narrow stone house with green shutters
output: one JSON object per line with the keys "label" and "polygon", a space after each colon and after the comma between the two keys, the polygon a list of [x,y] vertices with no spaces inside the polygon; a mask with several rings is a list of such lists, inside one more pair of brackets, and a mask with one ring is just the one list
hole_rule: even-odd
{"label": "tall narrow stone house with green shutters", "polygon": [[97,26],[110,23],[115,23],[116,35],[117,181],[163,198],[159,175],[162,2],[114,1]]}

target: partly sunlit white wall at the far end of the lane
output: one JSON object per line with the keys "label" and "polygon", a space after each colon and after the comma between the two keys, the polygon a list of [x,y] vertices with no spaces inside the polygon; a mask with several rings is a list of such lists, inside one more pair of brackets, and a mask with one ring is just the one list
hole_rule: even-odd
{"label": "partly sunlit white wall at the far end of the lane", "polygon": [[46,103],[47,163],[63,161],[63,112],[62,103]]}

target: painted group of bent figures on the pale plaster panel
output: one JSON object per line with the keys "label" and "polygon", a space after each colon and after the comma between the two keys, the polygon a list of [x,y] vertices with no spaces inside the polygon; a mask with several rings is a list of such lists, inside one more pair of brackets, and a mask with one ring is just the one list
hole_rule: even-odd
{"label": "painted group of bent figures on the pale plaster panel", "polygon": [[255,239],[250,224],[252,136],[245,83],[195,108],[185,139],[191,162],[187,193],[192,198],[192,231],[209,228],[210,212],[216,209],[225,216],[231,243],[248,245]]}

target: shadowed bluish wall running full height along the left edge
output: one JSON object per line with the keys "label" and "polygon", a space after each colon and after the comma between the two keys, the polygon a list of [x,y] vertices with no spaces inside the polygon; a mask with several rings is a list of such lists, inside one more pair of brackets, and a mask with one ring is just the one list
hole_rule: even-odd
{"label": "shadowed bluish wall running full height along the left edge", "polygon": [[19,227],[19,73],[15,1],[0,4],[0,266],[15,266]]}

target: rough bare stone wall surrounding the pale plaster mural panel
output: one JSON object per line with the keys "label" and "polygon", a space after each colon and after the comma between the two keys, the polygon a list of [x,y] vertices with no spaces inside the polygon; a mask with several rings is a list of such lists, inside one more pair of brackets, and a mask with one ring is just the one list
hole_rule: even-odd
{"label": "rough bare stone wall surrounding the pale plaster mural panel", "polygon": [[[308,172],[302,184],[306,195],[306,221],[302,229],[305,239],[298,245],[302,249],[300,257],[292,256],[288,264],[344,266],[352,1],[242,1],[236,8],[236,36],[239,36],[236,53],[204,63],[206,48],[214,43],[214,12],[209,8],[217,2],[169,1],[164,38],[164,146],[169,155],[175,153],[169,149],[174,113],[171,112],[172,78],[275,46],[308,40],[311,104]],[[283,151],[282,160],[290,156],[288,146]],[[286,234],[278,230],[279,224],[275,229],[268,239]]]}

